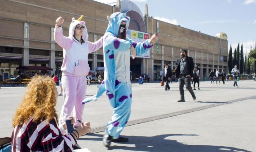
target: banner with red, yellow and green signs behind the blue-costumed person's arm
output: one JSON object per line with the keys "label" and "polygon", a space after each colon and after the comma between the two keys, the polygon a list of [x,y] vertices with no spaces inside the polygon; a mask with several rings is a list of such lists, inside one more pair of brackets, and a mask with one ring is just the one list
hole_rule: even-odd
{"label": "banner with red, yellow and green signs behind the blue-costumed person's arm", "polygon": [[[126,36],[132,41],[135,42],[144,42],[146,39],[150,38],[150,34],[144,33],[144,32],[139,32],[136,30],[127,30]],[[132,55],[131,55],[132,57]],[[150,51],[146,51],[143,55],[136,55],[136,58],[150,58]]]}

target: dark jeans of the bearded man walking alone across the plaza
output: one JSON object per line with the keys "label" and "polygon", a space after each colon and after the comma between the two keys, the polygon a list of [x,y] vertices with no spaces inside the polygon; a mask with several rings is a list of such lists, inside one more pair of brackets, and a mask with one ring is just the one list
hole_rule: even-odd
{"label": "dark jeans of the bearded man walking alone across the plaza", "polygon": [[195,96],[193,89],[191,87],[191,77],[186,77],[186,76],[180,75],[179,76],[179,86],[180,86],[179,88],[180,88],[181,99],[184,99],[184,84],[185,84],[186,88],[189,90],[192,97]]}

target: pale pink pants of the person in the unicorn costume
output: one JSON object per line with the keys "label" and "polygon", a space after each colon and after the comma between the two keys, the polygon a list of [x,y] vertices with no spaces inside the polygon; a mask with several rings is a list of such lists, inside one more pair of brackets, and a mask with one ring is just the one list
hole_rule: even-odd
{"label": "pale pink pants of the person in the unicorn costume", "polygon": [[[86,96],[86,77],[85,76],[66,76],[62,75],[62,87],[64,105],[59,118],[59,125],[65,124],[67,117],[71,115],[73,110],[73,116],[75,117],[75,127],[81,125],[77,119],[82,120],[84,111],[84,105],[81,101]],[[75,107],[74,107],[75,106]]]}

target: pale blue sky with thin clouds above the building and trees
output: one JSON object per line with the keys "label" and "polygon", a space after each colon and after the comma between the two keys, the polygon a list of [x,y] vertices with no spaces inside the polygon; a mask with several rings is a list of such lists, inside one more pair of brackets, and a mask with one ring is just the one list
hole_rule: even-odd
{"label": "pale blue sky with thin clouds above the building and trees", "polygon": [[[96,0],[109,4],[116,0]],[[228,35],[228,50],[243,43],[244,55],[256,42],[256,0],[131,0],[144,15],[215,36]],[[161,30],[161,29],[160,29]]]}

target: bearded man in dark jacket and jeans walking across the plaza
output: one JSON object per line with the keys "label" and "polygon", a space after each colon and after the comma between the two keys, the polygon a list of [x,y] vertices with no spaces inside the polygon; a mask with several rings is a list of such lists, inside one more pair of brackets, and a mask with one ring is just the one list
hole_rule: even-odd
{"label": "bearded man in dark jacket and jeans walking across the plaza", "polygon": [[185,102],[184,99],[184,84],[186,88],[189,90],[190,94],[193,97],[193,100],[195,100],[195,94],[193,92],[193,89],[191,87],[191,76],[193,76],[193,70],[194,70],[194,61],[193,58],[187,56],[188,51],[186,49],[181,49],[181,58],[177,59],[177,67],[175,74],[178,77],[179,80],[179,88],[180,88],[180,94],[181,99],[178,100],[178,102]]}

